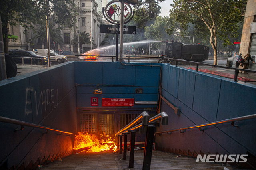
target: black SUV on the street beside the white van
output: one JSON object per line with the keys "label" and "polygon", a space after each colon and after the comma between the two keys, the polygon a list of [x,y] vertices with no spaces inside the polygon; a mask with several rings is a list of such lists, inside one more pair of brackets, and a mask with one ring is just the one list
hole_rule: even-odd
{"label": "black SUV on the street beside the white van", "polygon": [[24,64],[31,64],[31,58],[32,63],[36,65],[47,65],[48,64],[48,57],[37,55],[33,51],[27,51],[22,49],[12,49],[9,50],[9,55],[12,56],[16,60],[17,64],[22,64],[22,59]]}

